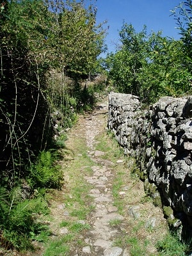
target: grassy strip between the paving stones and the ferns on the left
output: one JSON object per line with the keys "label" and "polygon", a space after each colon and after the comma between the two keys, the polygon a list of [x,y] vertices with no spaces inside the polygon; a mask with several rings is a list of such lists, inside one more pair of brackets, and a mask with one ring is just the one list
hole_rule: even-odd
{"label": "grassy strip between the paving stones and the ferns on the left", "polygon": [[[91,175],[91,167],[95,165],[92,159],[87,155],[87,148],[83,138],[76,137],[75,140],[67,140],[66,147],[63,148],[63,166],[64,176],[63,193],[58,193],[57,200],[65,205],[65,211],[68,212],[67,218],[63,215],[57,216],[57,212],[52,214],[57,224],[58,230],[67,227],[68,233],[65,236],[58,234],[49,241],[49,246],[43,256],[71,255],[74,248],[83,246],[82,234],[91,227],[88,223],[78,222],[86,220],[88,214],[93,211],[92,197],[88,194],[92,185],[88,184],[84,176]],[[56,198],[54,199],[56,200]],[[54,210],[54,208],[52,209]],[[53,220],[53,223],[55,222]],[[56,228],[55,225],[52,228]]]}

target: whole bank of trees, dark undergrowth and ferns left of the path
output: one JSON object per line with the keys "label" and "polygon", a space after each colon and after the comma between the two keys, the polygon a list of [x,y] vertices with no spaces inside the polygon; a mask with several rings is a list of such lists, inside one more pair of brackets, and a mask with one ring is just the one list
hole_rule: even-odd
{"label": "whole bank of trees, dark undergrowth and ferns left of the path", "polygon": [[94,104],[93,88],[81,81],[98,72],[106,32],[84,1],[0,8],[0,242],[20,250],[44,229],[35,221],[47,213],[45,190],[60,189],[56,150],[65,129]]}

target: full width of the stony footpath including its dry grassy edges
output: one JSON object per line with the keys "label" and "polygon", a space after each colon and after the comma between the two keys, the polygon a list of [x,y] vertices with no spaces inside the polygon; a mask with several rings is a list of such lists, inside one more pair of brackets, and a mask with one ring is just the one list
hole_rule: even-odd
{"label": "full width of the stony footpath including its dry grassy edges", "polygon": [[[141,250],[145,249],[145,253],[139,252],[137,255],[158,255],[154,244],[156,244],[157,237],[161,239],[164,236],[165,230],[165,228],[161,228],[165,227],[161,210],[154,207],[152,202],[142,202],[142,198],[145,197],[143,182],[131,179],[131,172],[122,159],[113,157],[116,159],[116,163],[113,163],[106,149],[104,152],[97,149],[99,140],[104,139],[112,143],[109,138],[106,139],[107,118],[108,100],[99,104],[91,114],[81,116],[77,124],[68,132],[66,145],[70,154],[65,156],[65,161],[61,161],[66,186],[64,184],[63,189],[58,192],[57,198],[53,198],[51,203],[51,215],[54,220],[51,221],[52,233],[54,237],[70,234],[68,227],[60,227],[60,223],[65,220],[73,221],[73,216],[70,215],[70,209],[66,207],[64,198],[66,195],[72,198],[71,186],[79,177],[79,179],[83,178],[83,182],[86,180],[87,184],[90,184],[88,195],[92,199],[87,204],[91,204],[93,210],[86,216],[86,220],[76,220],[77,223],[82,222],[90,228],[79,234],[82,244],[72,242],[70,253],[67,256],[134,256],[134,253],[131,252],[131,244],[125,242],[125,239],[131,238],[138,240],[141,238]],[[79,162],[78,166],[81,167],[74,170],[73,173],[73,169],[68,166],[76,168],[77,166],[72,164],[73,161],[76,162],[76,159],[81,161],[82,154],[78,147],[80,144],[81,150],[85,140],[86,157],[91,159],[89,168],[91,166],[92,172],[81,172],[88,166],[84,166],[84,162]],[[82,152],[84,154],[84,151]],[[112,193],[115,180],[119,180],[117,179],[119,172],[124,172],[124,183],[120,190],[118,189],[117,197],[120,198],[120,205],[123,204],[122,208],[124,209],[120,211],[122,215],[114,206],[116,198],[113,198]],[[76,204],[74,206],[78,207]],[[140,228],[141,225],[143,229]],[[151,241],[148,247],[142,245],[143,241],[147,240]],[[37,255],[40,254],[35,256]]]}

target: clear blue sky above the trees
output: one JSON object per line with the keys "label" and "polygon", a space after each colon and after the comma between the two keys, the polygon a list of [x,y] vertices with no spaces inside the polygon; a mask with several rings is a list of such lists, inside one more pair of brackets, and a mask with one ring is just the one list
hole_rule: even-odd
{"label": "clear blue sky above the trees", "polygon": [[179,39],[177,24],[170,17],[173,10],[181,1],[179,0],[97,0],[97,22],[108,21],[108,36],[106,44],[108,51],[115,51],[118,44],[118,31],[123,21],[132,24],[137,32],[147,26],[147,31],[163,31],[163,36]]}

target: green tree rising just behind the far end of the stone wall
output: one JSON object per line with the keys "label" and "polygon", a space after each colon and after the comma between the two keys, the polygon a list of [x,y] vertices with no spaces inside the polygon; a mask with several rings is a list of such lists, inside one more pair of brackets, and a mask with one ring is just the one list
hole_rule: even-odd
{"label": "green tree rising just behind the far end of the stone wall", "polygon": [[138,74],[141,72],[146,51],[146,27],[136,33],[131,24],[124,24],[119,33],[122,47],[115,54],[109,54],[109,79],[120,92],[138,95],[140,83]]}

